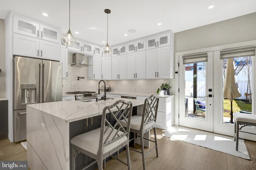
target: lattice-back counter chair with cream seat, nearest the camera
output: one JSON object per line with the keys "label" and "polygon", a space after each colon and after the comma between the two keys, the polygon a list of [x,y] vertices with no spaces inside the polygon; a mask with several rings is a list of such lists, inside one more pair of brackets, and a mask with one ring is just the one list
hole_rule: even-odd
{"label": "lattice-back counter chair with cream seat, nearest the camera", "polygon": [[[116,113],[114,113],[116,111]],[[110,119],[106,118],[106,113],[110,113],[110,119],[115,120],[116,123],[110,124]],[[95,159],[94,162],[84,167],[88,168],[95,162],[98,163],[98,169],[102,170],[106,166],[105,159],[108,156],[115,158],[130,167],[130,153],[129,153],[129,133],[130,133],[130,122],[132,115],[132,102],[125,102],[124,100],[118,100],[113,105],[106,106],[102,112],[101,127],[94,129],[82,135],[73,137],[71,143],[71,164],[72,170],[76,169],[76,155],[79,152],[90,156]],[[109,116],[107,116],[109,117]],[[125,119],[127,126],[124,128],[120,119]],[[113,156],[115,152],[119,152],[119,149],[125,147],[127,163],[120,160],[118,157]],[[102,165],[104,163],[104,165]]]}

